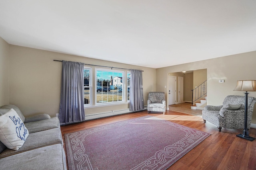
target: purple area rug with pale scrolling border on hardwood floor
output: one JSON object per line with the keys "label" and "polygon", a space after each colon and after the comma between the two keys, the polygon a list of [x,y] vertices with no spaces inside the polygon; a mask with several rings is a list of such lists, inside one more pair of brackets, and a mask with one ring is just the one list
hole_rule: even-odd
{"label": "purple area rug with pale scrolling border on hardwood floor", "polygon": [[65,134],[69,170],[164,170],[210,134],[144,116]]}

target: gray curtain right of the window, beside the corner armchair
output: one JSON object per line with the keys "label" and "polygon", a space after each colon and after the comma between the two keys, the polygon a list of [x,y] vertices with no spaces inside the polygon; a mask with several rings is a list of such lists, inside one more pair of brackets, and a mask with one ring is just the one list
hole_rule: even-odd
{"label": "gray curtain right of the window, beside the corner armchair", "polygon": [[144,109],[142,70],[131,70],[130,75],[130,111]]}

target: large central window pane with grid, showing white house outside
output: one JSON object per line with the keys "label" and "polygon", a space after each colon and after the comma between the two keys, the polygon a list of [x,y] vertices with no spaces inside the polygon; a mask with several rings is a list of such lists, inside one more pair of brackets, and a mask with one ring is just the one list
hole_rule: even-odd
{"label": "large central window pane with grid, showing white house outside", "polygon": [[96,104],[124,102],[124,72],[96,69]]}

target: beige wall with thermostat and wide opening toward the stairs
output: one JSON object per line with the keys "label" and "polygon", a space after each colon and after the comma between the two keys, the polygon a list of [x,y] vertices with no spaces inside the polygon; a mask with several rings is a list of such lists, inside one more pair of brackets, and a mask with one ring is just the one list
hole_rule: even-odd
{"label": "beige wall with thermostat and wide opening toward the stairs", "polygon": [[[207,69],[207,104],[222,105],[224,98],[228,95],[244,96],[243,92],[233,91],[237,80],[256,80],[256,51],[203,60],[193,63],[180,64],[158,68],[156,77],[158,84],[167,85],[167,76],[170,72],[181,72],[182,70]],[[219,80],[225,80],[219,83]],[[164,90],[162,86],[157,90]],[[256,92],[250,92],[249,96],[256,97]],[[256,123],[256,113],[253,115],[252,123]]]}

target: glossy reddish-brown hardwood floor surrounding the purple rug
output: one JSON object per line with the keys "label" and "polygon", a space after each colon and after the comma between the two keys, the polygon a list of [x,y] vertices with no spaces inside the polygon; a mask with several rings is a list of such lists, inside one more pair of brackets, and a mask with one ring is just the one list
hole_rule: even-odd
{"label": "glossy reddish-brown hardwood floor surrounding the purple rug", "polygon": [[[168,170],[256,170],[256,140],[247,141],[236,137],[237,134],[242,133],[242,129],[222,128],[222,131],[218,132],[215,125],[207,121],[203,123],[201,116],[188,115],[176,111],[166,111],[166,115],[159,112],[148,114],[147,111],[141,111],[64,125],[61,126],[62,138],[65,143],[65,133],[90,129],[145,115],[156,116],[211,134]],[[256,137],[256,129],[251,128],[249,132],[250,136]],[[64,149],[66,151],[65,144]]]}

